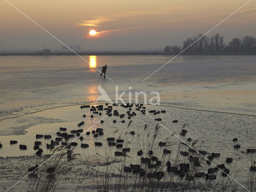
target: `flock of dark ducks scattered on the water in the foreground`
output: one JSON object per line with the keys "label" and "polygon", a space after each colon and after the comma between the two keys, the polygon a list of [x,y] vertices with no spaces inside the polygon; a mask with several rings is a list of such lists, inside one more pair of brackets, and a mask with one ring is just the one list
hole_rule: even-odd
{"label": "flock of dark ducks scattered on the water in the foreground", "polygon": [[[113,106],[116,106],[116,105],[118,105],[118,104],[113,104]],[[81,109],[82,108],[90,108],[90,111],[92,111],[92,115],[90,115],[90,118],[94,118],[95,114],[102,115],[103,110],[106,111],[106,115],[108,115],[108,116],[114,115],[114,116],[117,116],[117,117],[119,116],[120,118],[124,118],[124,116],[126,114],[128,116],[128,119],[131,119],[133,116],[137,115],[136,112],[131,112],[132,107],[134,106],[133,104],[121,104],[120,105],[124,108],[128,108],[128,111],[126,112],[126,114],[119,114],[117,110],[112,110],[112,106],[108,106],[107,103],[106,103],[106,106],[107,107],[104,108],[103,105],[98,105],[96,107],[90,106],[90,105],[83,105],[80,108]],[[140,111],[142,114],[146,114],[146,107],[144,107],[143,104],[135,104],[135,106],[136,106],[136,110]],[[100,112],[100,111],[102,111],[102,112]],[[161,110],[161,111],[150,110],[149,113],[152,113],[152,114],[156,115],[156,114],[160,114],[160,113],[166,113],[166,111],[165,110]],[[83,117],[85,118],[86,115],[84,114]],[[161,121],[162,119],[161,118],[156,118],[155,120],[156,121]],[[116,122],[117,122],[116,120],[113,120],[113,123],[116,123]],[[122,120],[121,122],[124,123],[125,120]],[[172,122],[176,123],[176,122],[178,122],[178,120],[173,120]],[[101,120],[101,123],[104,123],[104,121]],[[82,125],[84,125],[84,121],[80,122],[78,124],[78,127],[80,127]],[[74,138],[75,136],[77,136],[81,141],[84,140],[84,137],[81,135],[81,134],[84,134],[82,129],[71,130],[70,134],[68,134],[66,131],[67,131],[67,128],[60,127],[59,131],[56,132],[57,137],[55,138],[55,140],[51,140],[50,144],[46,144],[46,148],[47,149],[53,149],[53,148],[55,148],[55,146],[59,146],[61,144],[62,146],[65,146],[65,148],[70,149],[71,146],[78,146],[77,142],[69,142],[68,143],[68,140],[70,138]],[[102,128],[97,128],[96,130],[92,130],[92,132],[88,131],[85,134],[90,135],[91,133],[93,134],[94,137],[104,135],[104,132],[103,132]],[[131,131],[130,134],[134,135],[135,132]],[[187,130],[182,129],[182,131],[180,132],[180,135],[185,136],[186,134],[187,134]],[[51,135],[36,134],[36,139],[41,139],[41,138],[44,138],[44,139],[48,140],[48,139],[51,139],[52,136]],[[120,139],[120,138],[116,139],[116,138],[110,137],[110,138],[107,138],[106,140],[108,142],[108,146],[116,146],[116,148],[122,148],[121,151],[114,152],[115,156],[126,156],[126,153],[130,152],[130,148],[123,148],[123,143],[124,143],[123,139]],[[192,139],[188,138],[187,140],[188,140],[188,142],[190,142]],[[233,141],[236,142],[236,141],[238,141],[238,139],[234,138]],[[10,141],[11,145],[12,144],[17,144],[17,143],[18,143],[18,141],[15,141],[15,140]],[[38,155],[38,156],[40,156],[43,152],[42,148],[40,148],[41,145],[42,145],[41,141],[35,141],[34,142],[34,150],[36,150],[36,155]],[[94,145],[95,146],[102,146],[103,144],[102,144],[102,142],[94,142]],[[166,142],[159,142],[158,145],[162,146],[164,148],[166,146]],[[88,148],[89,144],[82,143],[80,146],[81,146],[81,148]],[[2,148],[1,143],[0,143],[0,148]],[[19,148],[20,148],[20,150],[26,150],[27,146],[20,144]],[[240,148],[240,145],[235,144],[234,148],[238,149],[238,148]],[[222,171],[221,175],[223,177],[226,177],[230,173],[230,170],[228,168],[226,168],[225,164],[219,164],[214,168],[209,168],[207,170],[207,173],[196,172],[196,173],[194,173],[194,175],[189,175],[189,170],[190,170],[190,167],[192,165],[194,167],[201,166],[201,162],[200,162],[198,156],[192,156],[191,155],[195,152],[196,152],[196,150],[194,150],[193,148],[189,148],[188,152],[187,151],[180,151],[180,155],[188,156],[188,159],[189,159],[190,163],[180,163],[179,166],[172,166],[171,162],[168,161],[166,163],[167,172],[173,172],[174,174],[177,174],[180,178],[185,177],[185,179],[187,181],[192,181],[192,180],[194,180],[194,178],[200,178],[200,177],[205,177],[206,179],[214,180],[214,179],[216,179],[216,174],[215,173],[218,170]],[[203,151],[203,150],[199,150],[198,152],[203,156],[208,155],[207,160],[206,160],[207,164],[211,164],[212,160],[214,158],[220,157],[220,153],[211,153],[211,154],[209,154],[208,152]],[[247,149],[246,152],[247,153],[255,153],[256,149]],[[143,154],[144,154],[144,152],[142,150],[139,150],[137,152],[138,156],[142,156]],[[142,164],[146,165],[146,167],[148,168],[148,169],[146,169],[147,171],[151,170],[153,168],[158,168],[159,166],[162,165],[162,162],[160,160],[158,160],[158,157],[153,156],[153,154],[154,154],[154,152],[152,150],[149,150],[147,152],[148,158],[142,157],[140,159],[141,165],[139,165],[139,164],[135,164],[135,165],[130,164],[130,166],[124,166],[124,168],[123,168],[124,172],[132,172],[133,174],[139,174],[140,176],[146,176],[148,178],[156,178],[159,181],[161,178],[164,177],[165,172],[162,172],[162,171],[156,172],[155,171],[155,172],[146,173],[146,171],[142,168]],[[163,149],[163,154],[171,154],[171,151],[164,148]],[[71,150],[67,150],[67,158],[71,158]],[[233,161],[233,159],[231,157],[226,158],[226,163],[230,164],[230,163],[232,163],[232,161]],[[52,173],[52,172],[55,171],[55,169],[56,169],[55,167],[50,167],[46,170],[46,172]],[[28,169],[29,172],[35,172],[36,170],[38,170],[38,165],[33,166],[33,167]],[[251,166],[250,170],[251,171],[256,171],[256,166]]]}

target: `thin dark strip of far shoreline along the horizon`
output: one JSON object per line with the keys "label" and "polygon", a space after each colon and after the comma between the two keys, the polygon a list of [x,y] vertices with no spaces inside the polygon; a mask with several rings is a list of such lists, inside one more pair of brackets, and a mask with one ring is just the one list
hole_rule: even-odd
{"label": "thin dark strip of far shoreline along the horizon", "polygon": [[[77,52],[79,55],[176,55],[176,54],[167,54],[166,52]],[[72,52],[50,52],[50,53],[42,53],[42,52],[0,52],[0,56],[68,56],[68,55],[76,55],[75,53]],[[223,54],[221,53],[212,53],[212,54],[188,54],[184,53],[181,55],[256,55],[256,53],[226,53],[224,52]]]}

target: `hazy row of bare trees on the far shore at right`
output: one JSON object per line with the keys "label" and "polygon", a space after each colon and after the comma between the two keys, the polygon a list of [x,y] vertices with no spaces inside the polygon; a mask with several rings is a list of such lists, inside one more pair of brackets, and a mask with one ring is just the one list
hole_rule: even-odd
{"label": "hazy row of bare trees on the far shore at right", "polygon": [[[196,40],[198,41],[195,42]],[[190,46],[191,44],[192,46]],[[182,52],[184,49],[186,50]],[[203,36],[200,33],[187,38],[183,41],[182,46],[166,46],[164,52],[167,54],[179,54],[180,52],[182,54],[256,54],[256,38],[252,36],[244,36],[242,39],[233,38],[225,45],[224,36],[219,33],[212,37]]]}

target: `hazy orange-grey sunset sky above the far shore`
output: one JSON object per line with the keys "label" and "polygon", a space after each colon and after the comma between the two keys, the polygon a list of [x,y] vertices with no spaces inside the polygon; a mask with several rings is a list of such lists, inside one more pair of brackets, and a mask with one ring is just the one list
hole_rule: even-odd
{"label": "hazy orange-grey sunset sky above the far shore", "polygon": [[[206,33],[248,0],[8,0],[64,44],[83,50],[160,50]],[[227,43],[255,36],[256,1],[252,0],[216,27]],[[62,44],[0,1],[0,50],[60,49]],[[90,30],[98,34],[88,35]]]}

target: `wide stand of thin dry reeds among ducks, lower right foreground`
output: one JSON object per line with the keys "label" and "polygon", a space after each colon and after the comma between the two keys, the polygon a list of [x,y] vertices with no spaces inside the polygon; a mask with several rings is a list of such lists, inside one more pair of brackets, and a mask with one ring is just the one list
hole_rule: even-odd
{"label": "wide stand of thin dry reeds among ducks, lower right foreground", "polygon": [[[127,133],[128,128],[130,126],[130,123],[127,127]],[[184,125],[182,128],[184,128],[186,125]],[[181,140],[177,140],[176,138],[173,138],[172,136],[166,138],[166,149],[172,149],[173,155],[165,155],[162,153],[162,150],[164,148],[158,147],[158,141],[162,140],[163,138],[158,137],[158,131],[160,126],[158,124],[154,128],[154,133],[152,136],[150,134],[147,134],[145,130],[148,128],[147,125],[144,126],[144,132],[143,135],[139,135],[136,138],[136,142],[138,142],[137,149],[132,150],[130,153],[127,153],[125,156],[122,157],[115,157],[114,151],[110,148],[110,150],[105,152],[105,166],[98,167],[98,171],[101,172],[104,176],[99,177],[96,179],[95,186],[96,190],[98,192],[167,192],[167,191],[173,191],[173,192],[194,192],[194,191],[214,191],[214,192],[228,192],[228,191],[237,191],[241,190],[244,191],[245,189],[240,186],[236,181],[232,180],[230,177],[222,177],[221,171],[218,170],[217,173],[217,180],[206,180],[205,177],[203,178],[195,178],[193,181],[187,181],[184,178],[180,178],[179,175],[174,174],[173,172],[167,171],[166,162],[170,160],[172,166],[179,166],[180,163],[190,163],[190,168],[188,175],[194,176],[196,172],[205,172],[207,173],[207,169],[209,166],[206,164],[206,160],[202,158],[198,153],[190,153],[193,156],[197,156],[199,158],[200,166],[194,166],[192,162],[189,161],[188,156],[181,156],[180,151],[183,146],[186,146],[187,144],[184,144],[181,142]],[[126,134],[127,135],[127,134]],[[140,137],[142,139],[140,139]],[[173,138],[173,139],[172,139]],[[184,138],[182,138],[184,140]],[[128,145],[128,138],[126,136],[126,144],[124,147],[127,147]],[[178,147],[174,149],[174,145]],[[193,143],[193,148],[196,148],[196,142]],[[137,154],[134,154],[134,151],[137,153],[138,150],[143,150],[142,156],[137,156]],[[116,149],[115,149],[116,150]],[[147,153],[148,150],[153,150],[154,154],[153,156],[157,156],[158,160],[162,161],[162,164],[160,166],[157,166],[156,168],[148,168],[148,164],[141,163],[140,159],[141,157],[144,158],[150,158],[151,156]],[[223,153],[224,154],[224,153]],[[210,155],[210,154],[208,154]],[[236,152],[234,152],[234,156],[236,156]],[[207,155],[206,155],[207,156]],[[118,159],[118,161],[117,161]],[[235,166],[234,169],[232,169],[233,172],[230,172],[230,176],[240,181],[239,176],[239,170],[240,167],[238,166],[238,163],[234,158],[234,162],[232,163],[233,166]],[[134,162],[137,160],[136,164],[139,164],[141,168],[144,169],[144,171],[147,173],[153,173],[153,172],[164,172],[164,176],[157,180],[156,178],[148,178],[145,174],[145,176],[140,176],[139,174],[133,174],[132,172],[124,172],[124,166],[129,166],[131,162]],[[226,157],[223,158],[223,161],[226,160]],[[214,161],[212,161],[214,162]],[[214,164],[216,164],[214,162]],[[254,162],[255,164],[255,162]],[[254,166],[254,165],[252,165]],[[250,191],[254,191],[256,189],[256,177],[254,172],[248,171],[250,174],[248,174],[248,182],[246,184],[246,188]]]}

